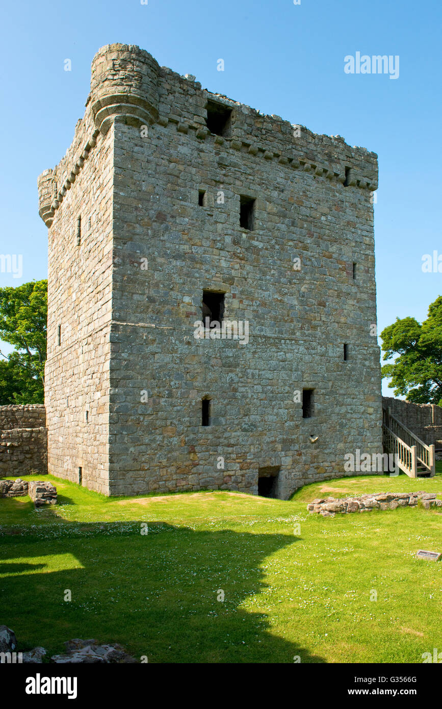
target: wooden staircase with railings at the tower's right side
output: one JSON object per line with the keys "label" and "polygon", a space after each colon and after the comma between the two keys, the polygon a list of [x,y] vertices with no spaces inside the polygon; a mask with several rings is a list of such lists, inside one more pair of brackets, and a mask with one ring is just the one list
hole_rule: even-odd
{"label": "wooden staircase with railings at the tower's right side", "polygon": [[435,469],[435,450],[392,415],[390,408],[382,408],[382,444],[385,453],[395,456],[395,464],[410,478],[432,478]]}

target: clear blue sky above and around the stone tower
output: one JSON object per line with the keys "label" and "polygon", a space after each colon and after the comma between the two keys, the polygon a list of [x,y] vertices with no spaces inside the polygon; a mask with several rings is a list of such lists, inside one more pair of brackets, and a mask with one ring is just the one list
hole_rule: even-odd
{"label": "clear blue sky above and around the stone tower", "polygon": [[[36,179],[72,141],[95,52],[122,42],[210,91],[377,152],[378,332],[396,316],[426,318],[442,292],[442,274],[421,270],[424,254],[442,255],[438,0],[9,0],[1,20],[0,253],[22,254],[23,276],[0,273],[0,286],[46,277]],[[356,52],[399,55],[399,78],[346,74]]]}

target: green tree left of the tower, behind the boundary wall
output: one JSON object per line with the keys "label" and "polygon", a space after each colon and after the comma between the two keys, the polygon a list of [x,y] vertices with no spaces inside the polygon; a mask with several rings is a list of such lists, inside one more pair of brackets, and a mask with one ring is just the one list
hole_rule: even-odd
{"label": "green tree left of the tower, behind the boundary wall", "polygon": [[0,403],[43,403],[46,362],[47,281],[0,288]]}

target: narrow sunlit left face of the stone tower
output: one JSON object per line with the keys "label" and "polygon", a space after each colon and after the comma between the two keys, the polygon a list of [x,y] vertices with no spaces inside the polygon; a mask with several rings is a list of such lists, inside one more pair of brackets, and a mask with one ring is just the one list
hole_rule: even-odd
{"label": "narrow sunlit left face of the stone tower", "polygon": [[50,473],[105,494],[112,183],[113,127],[98,133],[89,107],[63,160],[39,179],[50,225],[45,405]]}

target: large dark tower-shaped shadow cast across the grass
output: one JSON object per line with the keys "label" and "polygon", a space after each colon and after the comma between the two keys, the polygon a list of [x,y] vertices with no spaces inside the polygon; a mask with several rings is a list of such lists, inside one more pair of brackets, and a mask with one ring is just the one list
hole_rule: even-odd
{"label": "large dark tower-shaped shadow cast across the grass", "polygon": [[[120,642],[149,662],[324,661],[297,644],[295,630],[286,627],[285,637],[272,633],[271,617],[285,599],[266,585],[261,564],[298,537],[159,522],[149,523],[145,535],[140,530],[140,522],[68,524],[58,532],[47,527],[47,537],[41,527],[39,536],[28,530],[0,537],[0,596],[9,599],[1,622],[13,628],[20,646],[43,645],[50,657],[66,640],[94,637]],[[45,573],[8,576],[17,566],[34,569],[30,559],[42,556]],[[78,567],[62,568],[67,557]],[[68,589],[70,602],[64,601]],[[296,611],[287,602],[284,608],[288,627],[295,628]]]}

